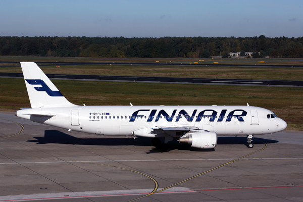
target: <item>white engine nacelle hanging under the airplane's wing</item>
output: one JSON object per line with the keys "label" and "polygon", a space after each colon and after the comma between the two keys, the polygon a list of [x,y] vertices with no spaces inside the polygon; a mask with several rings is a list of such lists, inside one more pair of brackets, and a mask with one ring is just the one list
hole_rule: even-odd
{"label": "white engine nacelle hanging under the airplane's wing", "polygon": [[215,132],[198,132],[191,133],[186,137],[179,139],[181,143],[190,144],[195,148],[215,148],[217,145],[217,133]]}

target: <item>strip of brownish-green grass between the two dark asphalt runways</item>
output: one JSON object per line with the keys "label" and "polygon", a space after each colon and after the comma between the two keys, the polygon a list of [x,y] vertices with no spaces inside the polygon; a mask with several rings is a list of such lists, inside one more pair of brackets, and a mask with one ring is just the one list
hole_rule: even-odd
{"label": "strip of brownish-green grass between the two dark asphalt runways", "polygon": [[[0,65],[0,72],[22,72],[19,66]],[[194,78],[236,78],[236,79],[275,79],[302,80],[303,68],[273,67],[191,67],[153,65],[74,65],[40,66],[42,71],[51,74],[93,74],[119,76],[157,76]]]}

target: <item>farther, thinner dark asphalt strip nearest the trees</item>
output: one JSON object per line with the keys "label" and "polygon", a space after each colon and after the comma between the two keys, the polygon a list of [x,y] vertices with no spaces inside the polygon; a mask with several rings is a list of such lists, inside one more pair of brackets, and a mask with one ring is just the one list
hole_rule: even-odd
{"label": "farther, thinner dark asphalt strip nearest the trees", "polygon": [[[300,61],[300,60],[295,60]],[[235,62],[235,61],[233,61]],[[243,62],[243,61],[241,61]],[[247,62],[247,61],[245,61]],[[0,61],[0,64],[20,64],[20,62],[6,62]],[[214,66],[214,67],[293,67],[293,68],[302,68],[303,65],[264,65],[263,63],[258,63],[258,61],[254,61],[251,64],[209,64],[209,62],[200,62],[197,64],[189,63],[189,62],[172,62],[172,63],[115,63],[115,62],[36,62],[38,66],[54,66],[54,65],[157,65],[157,66]],[[9,67],[9,66],[8,66]]]}

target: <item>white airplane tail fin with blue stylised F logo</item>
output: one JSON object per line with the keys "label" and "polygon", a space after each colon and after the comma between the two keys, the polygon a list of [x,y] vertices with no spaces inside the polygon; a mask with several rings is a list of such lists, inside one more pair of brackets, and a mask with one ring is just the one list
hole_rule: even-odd
{"label": "white airplane tail fin with blue stylised F logo", "polygon": [[30,105],[41,107],[74,107],[34,62],[20,62]]}

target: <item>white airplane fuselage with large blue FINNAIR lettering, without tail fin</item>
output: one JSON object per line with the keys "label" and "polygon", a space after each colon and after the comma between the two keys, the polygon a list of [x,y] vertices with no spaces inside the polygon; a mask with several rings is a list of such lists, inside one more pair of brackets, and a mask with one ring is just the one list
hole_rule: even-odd
{"label": "white airplane fuselage with large blue FINNAIR lettering, without tail fin", "polygon": [[153,127],[191,127],[218,135],[262,135],[286,128],[286,123],[271,111],[250,106],[42,107],[19,110],[16,116],[100,135],[155,137],[157,133],[150,133]]}

